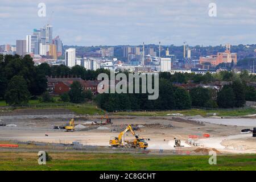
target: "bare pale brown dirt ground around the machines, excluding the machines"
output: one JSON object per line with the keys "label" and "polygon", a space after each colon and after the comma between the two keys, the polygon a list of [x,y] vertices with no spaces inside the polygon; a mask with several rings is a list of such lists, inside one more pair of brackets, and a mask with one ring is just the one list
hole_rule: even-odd
{"label": "bare pale brown dirt ground around the machines, excluding the machines", "polygon": [[[172,150],[174,138],[181,140],[181,145],[186,150],[195,150],[198,147],[216,148],[222,153],[256,153],[256,138],[252,134],[240,134],[246,126],[227,126],[214,123],[192,125],[189,123],[171,121],[171,117],[118,117],[110,116],[112,125],[104,125],[107,130],[99,130],[99,126],[86,126],[86,131],[64,132],[52,130],[52,125],[64,125],[71,118],[45,118],[40,115],[34,118],[2,119],[7,125],[14,123],[16,127],[0,127],[0,140],[20,140],[53,143],[72,143],[78,141],[86,145],[108,146],[110,137],[117,137],[127,125],[143,125],[135,131],[139,137],[146,138],[149,149]],[[168,119],[168,120],[167,120]],[[246,118],[244,118],[246,121]],[[100,116],[80,117],[75,119],[75,124],[84,124],[88,121],[100,123]],[[204,119],[201,119],[204,121]],[[48,134],[48,137],[45,134]],[[210,134],[204,138],[203,134]],[[199,136],[195,140],[199,146],[188,143],[189,135]],[[126,133],[126,139],[133,139]]]}

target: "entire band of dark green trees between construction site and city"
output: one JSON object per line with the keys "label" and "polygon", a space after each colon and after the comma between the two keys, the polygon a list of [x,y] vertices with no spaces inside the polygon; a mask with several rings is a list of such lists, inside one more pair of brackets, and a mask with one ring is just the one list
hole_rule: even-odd
{"label": "entire band of dark green trees between construction site and city", "polygon": [[[26,104],[30,99],[41,98],[43,102],[52,101],[47,91],[47,76],[49,77],[81,77],[84,80],[96,80],[98,74],[110,71],[97,69],[90,71],[81,66],[68,68],[65,65],[50,66],[47,63],[34,65],[29,55],[0,55],[0,100],[9,105]],[[127,72],[123,72],[128,74]],[[225,85],[220,92],[212,89],[193,88],[187,90],[175,86],[175,83],[203,83],[213,81],[232,81]],[[247,71],[234,73],[223,71],[211,75],[195,75],[193,73],[159,73],[159,98],[148,100],[148,94],[99,94],[96,98],[84,92],[82,86],[74,82],[71,91],[61,96],[65,102],[84,102],[95,99],[97,104],[105,110],[169,110],[189,109],[191,106],[199,107],[241,107],[245,101],[256,101],[254,86],[248,86],[255,81],[254,75]]]}

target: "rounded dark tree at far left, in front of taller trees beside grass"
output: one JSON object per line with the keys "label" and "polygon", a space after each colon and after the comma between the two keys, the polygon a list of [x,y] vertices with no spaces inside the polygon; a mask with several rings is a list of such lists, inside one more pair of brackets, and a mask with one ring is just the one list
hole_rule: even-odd
{"label": "rounded dark tree at far left, in front of taller trees beside grass", "polygon": [[27,104],[29,96],[26,80],[22,76],[11,78],[5,94],[6,103],[9,105]]}

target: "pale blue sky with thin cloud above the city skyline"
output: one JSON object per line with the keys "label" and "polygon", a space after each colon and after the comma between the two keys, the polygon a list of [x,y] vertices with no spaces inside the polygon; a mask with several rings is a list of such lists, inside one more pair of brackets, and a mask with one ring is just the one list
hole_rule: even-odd
{"label": "pale blue sky with thin cloud above the city skyline", "polygon": [[1,45],[47,23],[69,46],[254,44],[256,0],[0,0]]}

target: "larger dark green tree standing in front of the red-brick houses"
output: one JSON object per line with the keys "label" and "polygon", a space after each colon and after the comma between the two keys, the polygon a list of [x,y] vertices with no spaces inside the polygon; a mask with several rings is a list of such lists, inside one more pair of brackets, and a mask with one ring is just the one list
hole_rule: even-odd
{"label": "larger dark green tree standing in front of the red-brick houses", "polygon": [[71,84],[71,90],[68,92],[70,101],[73,103],[81,103],[85,101],[85,94],[79,81]]}

